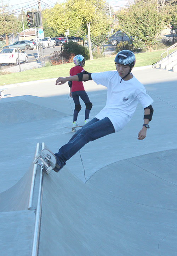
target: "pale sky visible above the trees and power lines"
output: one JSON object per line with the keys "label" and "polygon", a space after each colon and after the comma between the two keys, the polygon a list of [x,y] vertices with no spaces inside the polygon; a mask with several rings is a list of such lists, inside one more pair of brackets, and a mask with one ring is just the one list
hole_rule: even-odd
{"label": "pale sky visible above the trees and power lines", "polygon": [[[19,14],[21,10],[21,8],[23,8],[23,10],[25,11],[25,9],[29,10],[30,7],[33,8],[38,8],[38,0],[18,0],[18,4],[17,4],[17,0],[1,0],[3,2],[3,5],[8,5],[10,6],[11,10],[14,12],[16,12],[16,14]],[[0,6],[2,6],[0,1]],[[55,5],[56,2],[63,2],[63,0],[40,0],[41,2],[41,8],[50,8],[53,7]],[[110,2],[110,6],[113,7],[113,10],[116,11],[120,8],[120,6],[125,6],[127,5],[127,0],[107,0],[107,4],[109,5]]]}

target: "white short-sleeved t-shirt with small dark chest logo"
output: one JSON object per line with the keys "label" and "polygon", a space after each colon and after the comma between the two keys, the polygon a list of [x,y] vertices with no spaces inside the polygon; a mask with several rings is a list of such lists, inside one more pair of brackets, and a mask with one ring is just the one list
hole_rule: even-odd
{"label": "white short-sleeved t-shirt with small dark chest logo", "polygon": [[[147,95],[145,87],[133,76],[124,81],[118,72],[107,71],[91,74],[93,81],[107,87],[107,101],[105,107],[95,116],[99,120],[106,116],[112,122],[115,132],[130,121],[136,110],[138,102],[143,108],[153,103],[153,99]],[[121,81],[121,83],[120,83]]]}

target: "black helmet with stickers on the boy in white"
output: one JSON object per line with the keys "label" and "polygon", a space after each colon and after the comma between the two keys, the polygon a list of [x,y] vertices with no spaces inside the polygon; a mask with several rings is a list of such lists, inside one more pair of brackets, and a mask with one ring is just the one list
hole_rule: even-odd
{"label": "black helmet with stickers on the boy in white", "polygon": [[131,68],[135,66],[135,54],[129,50],[122,50],[115,56],[115,64],[129,65]]}

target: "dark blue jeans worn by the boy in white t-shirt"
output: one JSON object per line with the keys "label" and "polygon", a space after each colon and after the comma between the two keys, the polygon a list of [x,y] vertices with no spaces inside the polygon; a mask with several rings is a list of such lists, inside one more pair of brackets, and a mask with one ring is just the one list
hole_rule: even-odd
{"label": "dark blue jeans worn by the boy in white t-shirt", "polygon": [[89,123],[79,129],[69,142],[62,146],[58,150],[58,153],[55,154],[60,169],[62,169],[66,164],[65,162],[84,147],[86,143],[114,132],[114,126],[108,117],[101,120],[93,118]]}

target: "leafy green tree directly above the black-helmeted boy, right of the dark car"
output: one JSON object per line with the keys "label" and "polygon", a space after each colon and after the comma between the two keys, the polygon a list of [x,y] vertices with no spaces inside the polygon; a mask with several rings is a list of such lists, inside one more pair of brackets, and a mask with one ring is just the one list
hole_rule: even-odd
{"label": "leafy green tree directly above the black-helmeted boy, right of the dark car", "polygon": [[153,51],[154,44],[167,22],[167,13],[162,7],[160,10],[158,7],[156,0],[135,0],[135,4],[119,12],[120,28],[133,37],[136,47],[145,45],[149,51]]}

